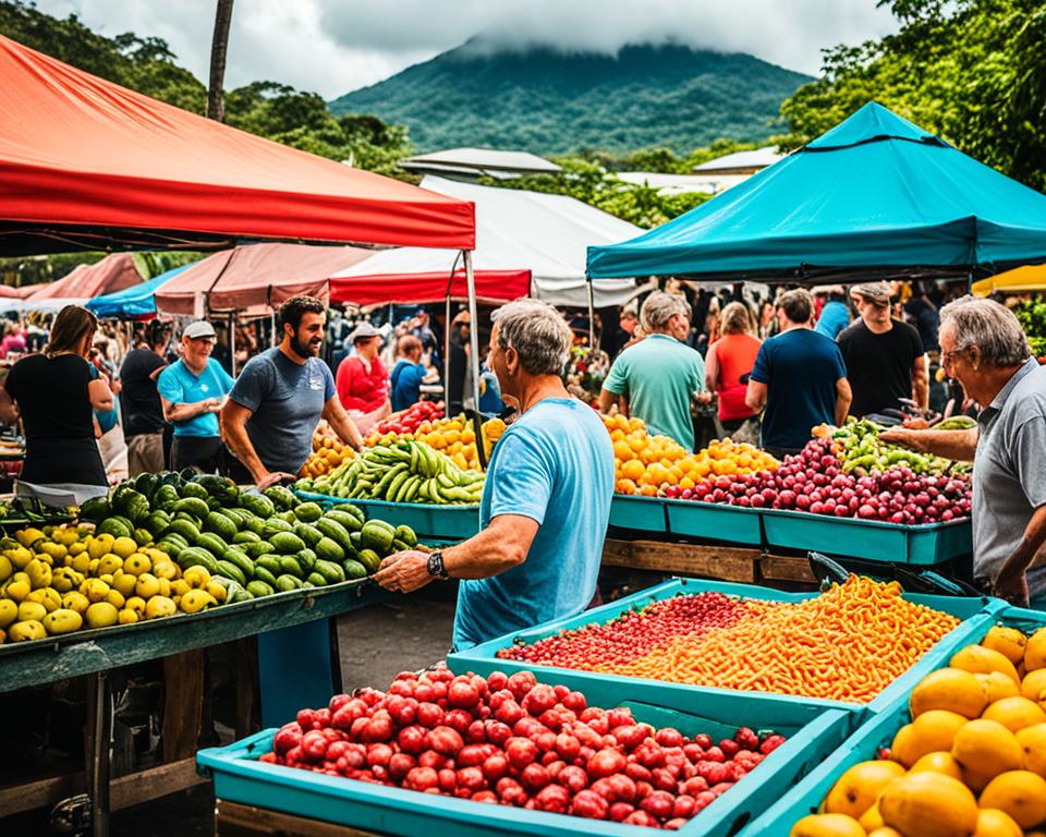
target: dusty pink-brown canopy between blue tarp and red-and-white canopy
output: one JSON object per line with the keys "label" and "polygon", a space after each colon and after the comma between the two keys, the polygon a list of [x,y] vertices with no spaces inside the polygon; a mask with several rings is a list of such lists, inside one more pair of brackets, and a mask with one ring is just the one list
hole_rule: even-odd
{"label": "dusty pink-brown canopy between blue tarp and red-and-white canopy", "polygon": [[245,244],[190,265],[157,290],[156,308],[202,317],[205,311],[276,307],[302,294],[326,301],[327,277],[373,253],[348,246]]}

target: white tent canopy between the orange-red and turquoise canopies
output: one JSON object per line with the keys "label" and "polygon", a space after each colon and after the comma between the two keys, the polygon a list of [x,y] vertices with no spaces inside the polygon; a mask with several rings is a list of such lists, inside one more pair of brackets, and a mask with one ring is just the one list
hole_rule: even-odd
{"label": "white tent canopy between the orange-red and turquoise canopies", "polygon": [[[628,221],[564,195],[478,186],[434,177],[426,177],[422,186],[475,204],[473,264],[477,275],[528,271],[533,295],[555,305],[588,304],[584,263],[588,244],[620,241],[640,232]],[[342,278],[374,277],[377,281],[380,277],[381,281],[408,282],[417,274],[449,277],[455,255],[419,247],[375,253],[366,262],[331,277],[332,299],[339,299],[337,288]],[[634,292],[635,282],[631,279],[596,282],[595,305],[620,305]]]}

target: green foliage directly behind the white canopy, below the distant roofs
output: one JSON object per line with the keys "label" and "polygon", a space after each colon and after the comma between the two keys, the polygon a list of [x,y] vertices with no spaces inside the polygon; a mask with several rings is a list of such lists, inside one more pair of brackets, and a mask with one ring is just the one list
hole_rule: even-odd
{"label": "green foliage directly behind the white canopy, below the distant roofs", "polygon": [[563,169],[561,173],[483,182],[502,189],[569,195],[644,228],[665,223],[711,197],[701,192],[662,196],[656,189],[625,183],[600,162],[581,157],[557,158],[556,162]]}

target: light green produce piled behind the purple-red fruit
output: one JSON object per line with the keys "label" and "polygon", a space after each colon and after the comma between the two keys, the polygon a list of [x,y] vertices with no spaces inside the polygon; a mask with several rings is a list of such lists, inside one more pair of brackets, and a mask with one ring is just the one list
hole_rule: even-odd
{"label": "light green produce piled behind the purple-red fruit", "polygon": [[[964,429],[976,423],[966,416],[956,416],[938,424],[935,429]],[[919,453],[900,445],[879,440],[879,432],[886,429],[864,418],[849,421],[842,427],[820,425],[814,436],[830,439],[831,452],[839,459],[839,469],[844,473],[864,476],[873,471],[890,468],[908,468],[916,474],[952,474],[969,470],[969,463],[951,462],[929,453]]]}

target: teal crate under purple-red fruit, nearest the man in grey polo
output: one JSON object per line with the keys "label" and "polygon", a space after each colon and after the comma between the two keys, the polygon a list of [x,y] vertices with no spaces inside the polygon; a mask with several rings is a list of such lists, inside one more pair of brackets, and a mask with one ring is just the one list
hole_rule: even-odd
{"label": "teal crate under purple-red fruit, nearest the man in grey polo", "polygon": [[973,551],[969,519],[915,526],[780,509],[763,509],[761,515],[771,547],[919,566],[944,563]]}

